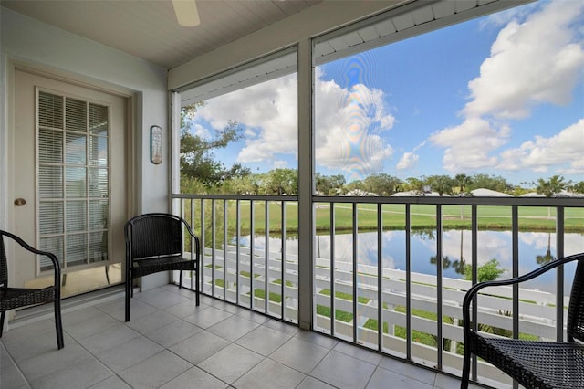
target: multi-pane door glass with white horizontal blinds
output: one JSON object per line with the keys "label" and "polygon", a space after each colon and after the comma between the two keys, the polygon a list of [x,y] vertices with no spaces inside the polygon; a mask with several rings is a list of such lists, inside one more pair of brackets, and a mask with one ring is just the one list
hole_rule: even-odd
{"label": "multi-pane door glass with white horizontal blinds", "polygon": [[46,91],[37,107],[40,247],[64,269],[107,260],[109,107]]}

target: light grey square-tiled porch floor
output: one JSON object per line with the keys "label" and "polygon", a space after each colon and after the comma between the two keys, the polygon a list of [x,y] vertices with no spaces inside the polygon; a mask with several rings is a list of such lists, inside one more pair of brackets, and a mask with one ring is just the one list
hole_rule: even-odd
{"label": "light grey square-tiled porch floor", "polygon": [[[412,388],[459,381],[169,285],[29,322],[0,342],[0,388]],[[476,386],[478,387],[478,386]]]}

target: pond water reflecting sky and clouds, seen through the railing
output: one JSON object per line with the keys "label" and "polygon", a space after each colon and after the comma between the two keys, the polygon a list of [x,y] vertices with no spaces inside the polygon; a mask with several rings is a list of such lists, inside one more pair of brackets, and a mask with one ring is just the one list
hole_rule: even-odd
{"label": "pond water reflecting sky and clouds, seen through the railing", "polygon": [[[384,268],[405,270],[405,231],[386,231],[382,234],[382,260]],[[462,279],[459,273],[461,258],[469,263],[472,258],[470,230],[443,231],[443,277]],[[412,271],[417,273],[436,275],[436,231],[414,231],[411,237]],[[315,238],[315,251],[318,258],[330,258],[330,237],[318,236]],[[249,246],[249,237],[242,237],[240,244]],[[500,279],[510,278],[512,274],[512,233],[511,231],[479,231],[478,232],[478,263],[479,266],[495,258],[499,268],[505,270]],[[357,239],[359,263],[362,265],[377,265],[378,244],[377,233],[360,233]],[[263,250],[266,247],[265,237],[254,238],[254,247]],[[335,261],[351,262],[353,252],[352,235],[342,234],[335,236]],[[269,239],[270,251],[281,249],[281,241],[277,238]],[[519,274],[525,274],[543,263],[557,258],[556,234],[548,232],[519,232]],[[297,239],[290,238],[286,243],[288,254],[297,254]],[[564,253],[576,254],[584,250],[584,234],[564,234]],[[571,279],[574,276],[576,264],[565,267],[566,295],[571,288]],[[523,284],[526,288],[555,292],[556,272],[547,272],[537,279]]]}

